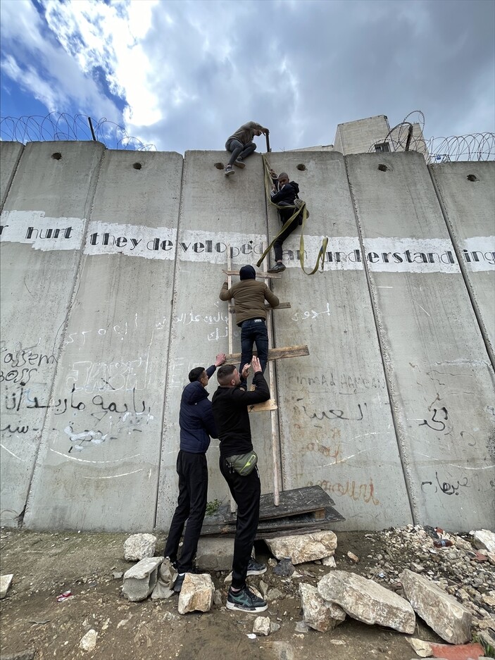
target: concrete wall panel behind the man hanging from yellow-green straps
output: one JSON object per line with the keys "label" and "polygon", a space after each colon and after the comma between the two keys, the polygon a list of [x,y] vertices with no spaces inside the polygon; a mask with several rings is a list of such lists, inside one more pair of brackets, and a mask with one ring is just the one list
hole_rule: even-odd
{"label": "concrete wall panel behind the man hanging from yellow-green straps", "polygon": [[[356,261],[358,230],[344,157],[270,154],[270,165],[299,182],[308,204],[307,270],[322,237],[330,238],[324,272],[307,276],[291,259],[299,249],[296,230],[284,242],[288,268],[274,280],[275,293],[292,305],[274,315],[277,346],[310,349],[308,357],[277,362],[284,487],[321,485],[346,518],[340,529],[410,523],[370,294]],[[280,229],[275,208],[268,218],[272,239]]]}

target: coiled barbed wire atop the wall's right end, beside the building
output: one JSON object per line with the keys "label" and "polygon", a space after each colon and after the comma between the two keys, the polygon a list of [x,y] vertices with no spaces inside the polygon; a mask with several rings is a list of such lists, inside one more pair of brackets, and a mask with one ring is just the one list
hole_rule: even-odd
{"label": "coiled barbed wire atop the wall's right end, beside the building", "polygon": [[[415,117],[415,116],[418,117]],[[420,131],[415,134],[415,125]],[[390,142],[391,151],[419,151],[429,165],[450,161],[491,161],[495,158],[495,133],[471,133],[450,137],[430,137],[423,135],[425,115],[420,110],[410,112],[400,124],[391,128],[387,137],[380,142]],[[376,151],[379,143],[370,145],[368,151]]]}

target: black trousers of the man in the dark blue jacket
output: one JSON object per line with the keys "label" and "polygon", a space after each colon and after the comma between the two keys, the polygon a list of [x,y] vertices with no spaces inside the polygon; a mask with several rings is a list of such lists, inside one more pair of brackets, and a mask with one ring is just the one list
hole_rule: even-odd
{"label": "black trousers of the man in the dark blue jacket", "polygon": [[170,557],[172,561],[177,559],[180,537],[187,521],[182,553],[177,561],[177,571],[187,573],[192,570],[206,512],[208,494],[206,455],[189,454],[180,449],[177,456],[177,474],[179,475],[179,497],[163,554],[165,557]]}

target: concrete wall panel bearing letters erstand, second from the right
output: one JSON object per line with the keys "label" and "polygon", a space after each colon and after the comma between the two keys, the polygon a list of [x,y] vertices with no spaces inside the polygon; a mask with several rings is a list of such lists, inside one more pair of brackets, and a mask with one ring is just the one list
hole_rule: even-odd
{"label": "concrete wall panel bearing letters erstand, second from the right", "polygon": [[346,163],[415,519],[492,528],[494,373],[425,161]]}

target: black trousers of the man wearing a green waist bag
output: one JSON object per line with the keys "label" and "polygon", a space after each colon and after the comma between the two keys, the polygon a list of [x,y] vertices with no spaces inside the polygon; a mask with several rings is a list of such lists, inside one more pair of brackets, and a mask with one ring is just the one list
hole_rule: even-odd
{"label": "black trousers of the man wearing a green waist bag", "polygon": [[220,472],[237,504],[237,522],[232,561],[232,587],[240,589],[246,583],[246,573],[260,518],[261,482],[258,467],[242,477],[220,456]]}

